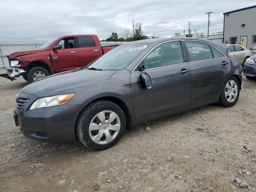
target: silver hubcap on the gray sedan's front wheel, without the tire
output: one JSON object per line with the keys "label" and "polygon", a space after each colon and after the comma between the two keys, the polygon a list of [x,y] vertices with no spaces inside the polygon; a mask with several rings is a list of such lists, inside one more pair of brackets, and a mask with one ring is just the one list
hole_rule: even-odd
{"label": "silver hubcap on the gray sedan's front wheel, without the tire", "polygon": [[112,142],[120,131],[120,118],[113,111],[102,111],[96,114],[89,125],[89,135],[97,144]]}

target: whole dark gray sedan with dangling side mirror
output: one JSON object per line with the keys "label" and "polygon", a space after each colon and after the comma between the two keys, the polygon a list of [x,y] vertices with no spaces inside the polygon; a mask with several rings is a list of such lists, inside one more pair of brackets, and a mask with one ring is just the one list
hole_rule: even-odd
{"label": "whole dark gray sedan with dangling side mirror", "polygon": [[216,102],[233,106],[241,73],[226,48],[207,40],[135,41],[87,67],[24,87],[13,115],[28,138],[79,139],[90,149],[104,150],[137,124]]}

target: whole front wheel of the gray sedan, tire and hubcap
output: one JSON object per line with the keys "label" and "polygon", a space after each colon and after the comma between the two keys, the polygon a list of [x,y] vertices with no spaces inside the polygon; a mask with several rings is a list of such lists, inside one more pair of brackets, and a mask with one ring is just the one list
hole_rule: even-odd
{"label": "whole front wheel of the gray sedan, tire and hubcap", "polygon": [[[115,114],[117,117],[112,121]],[[89,126],[91,126],[90,129]],[[119,131],[118,127],[120,127]],[[87,148],[105,150],[122,138],[125,127],[126,118],[122,109],[110,101],[101,100],[89,104],[82,110],[76,122],[76,134]],[[116,131],[111,129],[116,129]]]}

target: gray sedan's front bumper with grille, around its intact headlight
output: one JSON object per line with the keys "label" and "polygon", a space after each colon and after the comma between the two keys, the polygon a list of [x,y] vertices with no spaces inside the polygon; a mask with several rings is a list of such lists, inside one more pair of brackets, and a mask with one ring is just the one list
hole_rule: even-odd
{"label": "gray sedan's front bumper with grille, around its intact headlight", "polygon": [[[20,99],[21,98],[21,99]],[[27,102],[20,101],[26,98]],[[23,135],[34,140],[49,143],[67,143],[76,140],[75,125],[78,117],[78,107],[63,104],[60,106],[28,110],[37,99],[36,96],[20,92],[16,108],[13,112],[16,126]],[[18,105],[18,107],[17,107]]]}

